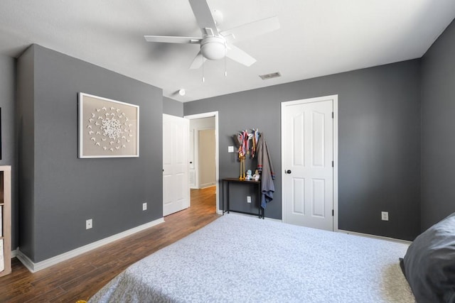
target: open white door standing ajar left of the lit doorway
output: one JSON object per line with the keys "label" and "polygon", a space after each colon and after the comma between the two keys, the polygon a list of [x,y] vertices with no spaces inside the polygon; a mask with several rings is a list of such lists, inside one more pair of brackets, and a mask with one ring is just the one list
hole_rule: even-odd
{"label": "open white door standing ajar left of the lit doorway", "polygon": [[188,119],[163,114],[163,216],[189,206]]}

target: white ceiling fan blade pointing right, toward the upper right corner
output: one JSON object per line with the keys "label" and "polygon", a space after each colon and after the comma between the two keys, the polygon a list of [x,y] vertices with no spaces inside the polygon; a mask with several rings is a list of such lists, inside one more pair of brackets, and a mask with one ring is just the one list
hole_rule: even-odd
{"label": "white ceiling fan blade pointing right, toward the upper right corner", "polygon": [[230,41],[233,41],[232,38],[234,38],[235,41],[241,41],[253,38],[257,35],[276,31],[277,29],[279,29],[279,21],[278,17],[274,16],[246,23],[242,26],[237,26],[226,31],[221,31],[220,34]]}

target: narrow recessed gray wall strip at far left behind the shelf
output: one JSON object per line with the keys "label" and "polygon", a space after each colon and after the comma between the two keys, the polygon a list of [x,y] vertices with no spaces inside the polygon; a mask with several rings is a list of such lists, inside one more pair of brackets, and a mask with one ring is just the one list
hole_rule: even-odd
{"label": "narrow recessed gray wall strip at far left behind the shelf", "polygon": [[18,246],[17,157],[16,157],[16,107],[14,58],[0,55],[0,107],[1,107],[1,160],[0,165],[11,165],[11,248]]}

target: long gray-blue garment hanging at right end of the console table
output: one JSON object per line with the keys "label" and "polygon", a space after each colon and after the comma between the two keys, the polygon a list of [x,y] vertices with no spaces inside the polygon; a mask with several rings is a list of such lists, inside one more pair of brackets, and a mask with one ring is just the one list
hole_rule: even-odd
{"label": "long gray-blue garment hanging at right end of the console table", "polygon": [[272,201],[273,193],[275,192],[273,183],[275,173],[269,150],[267,149],[267,143],[264,139],[264,133],[261,134],[259,142],[257,143],[257,170],[259,170],[259,173],[261,174],[261,207],[265,209],[267,203]]}

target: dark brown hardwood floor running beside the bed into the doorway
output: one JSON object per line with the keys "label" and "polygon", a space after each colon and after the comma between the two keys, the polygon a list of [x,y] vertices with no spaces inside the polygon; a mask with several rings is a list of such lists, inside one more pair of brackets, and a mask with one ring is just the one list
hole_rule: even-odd
{"label": "dark brown hardwood floor running beside the bed into the doorway", "polygon": [[0,277],[0,302],[76,302],[87,300],[129,265],[178,241],[218,218],[215,187],[191,189],[191,207],[165,222],[39,272],[16,258]]}

